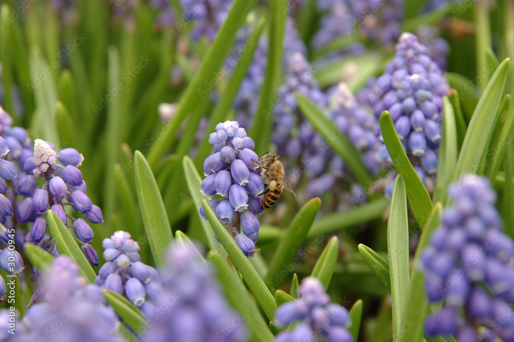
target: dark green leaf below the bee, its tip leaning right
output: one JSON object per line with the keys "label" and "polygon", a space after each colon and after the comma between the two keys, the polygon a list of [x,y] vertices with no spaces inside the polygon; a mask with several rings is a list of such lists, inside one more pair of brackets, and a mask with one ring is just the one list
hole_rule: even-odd
{"label": "dark green leaf below the bee, its tip leaning right", "polygon": [[294,258],[305,241],[307,232],[313,225],[320,206],[321,200],[318,197],[305,203],[282,236],[279,246],[269,263],[268,273],[264,278],[264,283],[268,285],[268,289],[271,291],[276,290],[280,285],[280,283],[276,283],[277,278],[281,282],[284,280],[282,276],[284,270],[289,275],[292,273],[294,266],[299,264]]}

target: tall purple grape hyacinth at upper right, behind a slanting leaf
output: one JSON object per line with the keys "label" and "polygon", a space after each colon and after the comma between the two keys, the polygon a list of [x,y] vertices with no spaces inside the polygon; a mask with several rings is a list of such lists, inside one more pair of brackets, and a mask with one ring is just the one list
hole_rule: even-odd
{"label": "tall purple grape hyacinth at upper right, behind a slanting leaf", "polygon": [[[427,56],[426,47],[414,34],[405,32],[393,61],[368,92],[377,118],[382,111],[391,114],[403,148],[418,173],[423,173],[421,178],[429,191],[437,171],[443,96],[448,90],[448,82]],[[377,149],[377,158],[384,165],[391,163],[385,145]]]}

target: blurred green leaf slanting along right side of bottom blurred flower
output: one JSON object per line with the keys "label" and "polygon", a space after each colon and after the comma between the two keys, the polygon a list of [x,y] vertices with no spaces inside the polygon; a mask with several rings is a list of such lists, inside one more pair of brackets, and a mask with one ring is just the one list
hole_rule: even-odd
{"label": "blurred green leaf slanting along right side of bottom blurred flower", "polygon": [[234,273],[232,267],[229,267],[225,257],[212,250],[207,254],[207,257],[216,268],[216,275],[225,289],[225,295],[229,303],[245,318],[245,322],[252,332],[250,340],[271,342],[274,338],[273,334],[269,331],[267,323],[259,312],[259,308],[248,295],[241,278]]}

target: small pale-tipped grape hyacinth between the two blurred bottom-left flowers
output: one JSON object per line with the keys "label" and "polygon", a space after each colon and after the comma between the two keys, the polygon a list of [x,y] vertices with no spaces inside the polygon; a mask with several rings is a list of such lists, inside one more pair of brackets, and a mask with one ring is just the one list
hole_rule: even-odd
{"label": "small pale-tipped grape hyacinth between the two blurred bottom-left flowers", "polygon": [[148,294],[145,289],[162,286],[157,270],[141,262],[139,244],[126,231],[115,231],[111,238],[103,239],[102,247],[106,263],[100,267],[95,284],[141,307]]}

